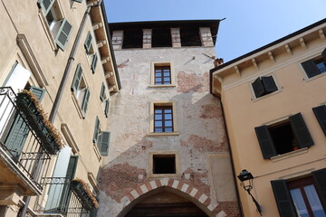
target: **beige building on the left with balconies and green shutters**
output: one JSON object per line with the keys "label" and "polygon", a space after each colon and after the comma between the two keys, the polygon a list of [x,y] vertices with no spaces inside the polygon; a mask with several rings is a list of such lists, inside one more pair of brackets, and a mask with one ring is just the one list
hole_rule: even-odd
{"label": "beige building on the left with balconies and green shutters", "polygon": [[0,216],[93,214],[120,90],[104,5],[1,3]]}

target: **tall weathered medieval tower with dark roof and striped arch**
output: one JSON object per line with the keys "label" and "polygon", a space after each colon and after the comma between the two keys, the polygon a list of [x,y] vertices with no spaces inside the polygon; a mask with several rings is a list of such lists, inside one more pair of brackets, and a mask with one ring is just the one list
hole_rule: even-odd
{"label": "tall weathered medieval tower with dark roof and striped arch", "polygon": [[110,97],[98,216],[238,216],[220,100],[218,20],[110,24],[123,89]]}

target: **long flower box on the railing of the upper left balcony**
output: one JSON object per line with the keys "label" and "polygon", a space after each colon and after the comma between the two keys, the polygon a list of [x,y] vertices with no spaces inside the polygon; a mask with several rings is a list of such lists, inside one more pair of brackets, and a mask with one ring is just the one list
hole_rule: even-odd
{"label": "long flower box on the railing of the upper left balcony", "polygon": [[56,154],[63,146],[59,131],[50,122],[39,99],[29,90],[22,90],[16,98],[16,105],[29,120],[30,126],[40,137],[44,148],[50,154]]}

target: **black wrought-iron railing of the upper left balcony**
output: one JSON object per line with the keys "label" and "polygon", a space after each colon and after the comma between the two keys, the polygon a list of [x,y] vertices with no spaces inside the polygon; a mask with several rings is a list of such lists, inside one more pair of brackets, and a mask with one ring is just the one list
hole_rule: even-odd
{"label": "black wrought-iron railing of the upper left balcony", "polygon": [[0,88],[0,157],[24,182],[35,185],[41,193],[41,178],[46,175],[51,156],[17,108],[16,97],[10,87]]}

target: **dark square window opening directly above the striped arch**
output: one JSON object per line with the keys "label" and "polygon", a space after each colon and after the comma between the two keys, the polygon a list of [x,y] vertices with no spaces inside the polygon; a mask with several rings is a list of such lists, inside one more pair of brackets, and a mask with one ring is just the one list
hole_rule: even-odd
{"label": "dark square window opening directly above the striped arch", "polygon": [[154,174],[176,174],[176,155],[153,155]]}

